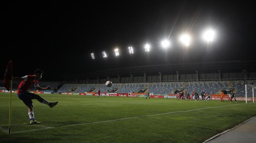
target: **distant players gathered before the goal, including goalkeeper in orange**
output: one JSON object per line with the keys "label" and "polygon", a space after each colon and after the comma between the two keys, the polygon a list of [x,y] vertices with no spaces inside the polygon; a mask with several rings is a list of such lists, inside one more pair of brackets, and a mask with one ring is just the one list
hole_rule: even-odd
{"label": "distant players gathered before the goal, including goalkeeper in orange", "polygon": [[[201,92],[201,98],[200,98],[200,96],[199,96],[199,94],[198,94],[198,92],[195,90],[195,92],[194,91],[192,91],[192,93],[191,93],[191,95],[192,95],[192,98],[190,99],[190,95],[189,95],[189,93],[186,91],[185,92],[185,94],[184,94],[184,92],[183,91],[181,91],[180,93],[179,93],[179,97],[178,97],[178,100],[180,99],[180,98],[182,98],[182,100],[195,100],[195,101],[198,101],[198,100],[202,100],[202,101],[207,101],[207,99],[209,99],[209,101],[211,100],[211,95],[210,95],[210,93],[205,93],[205,92]],[[221,102],[224,102],[224,100],[223,100],[223,97],[224,97],[224,94],[223,94],[223,89],[220,91],[220,98],[221,98]],[[235,93],[233,92],[233,91],[231,91],[231,99],[230,99],[230,103],[232,102],[232,99],[234,98],[234,100],[235,100],[235,102],[237,103],[237,101],[236,101],[236,95],[235,95]]]}

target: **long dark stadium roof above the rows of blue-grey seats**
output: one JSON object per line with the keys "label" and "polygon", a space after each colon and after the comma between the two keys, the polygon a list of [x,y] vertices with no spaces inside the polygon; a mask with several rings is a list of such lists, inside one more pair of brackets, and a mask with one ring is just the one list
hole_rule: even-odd
{"label": "long dark stadium roof above the rows of blue-grey seats", "polygon": [[136,73],[150,73],[150,72],[164,72],[164,71],[179,71],[188,72],[195,70],[206,70],[215,71],[218,70],[229,70],[234,72],[237,70],[254,70],[256,69],[256,61],[221,61],[221,62],[194,62],[194,63],[180,63],[180,64],[158,64],[158,65],[148,65],[148,66],[138,66],[138,67],[125,67],[125,68],[116,68],[111,70],[100,70],[91,73],[81,73],[81,74],[72,74],[72,75],[61,75],[62,79],[85,79],[93,77],[102,77],[102,76],[117,76],[123,74],[136,74]]}

